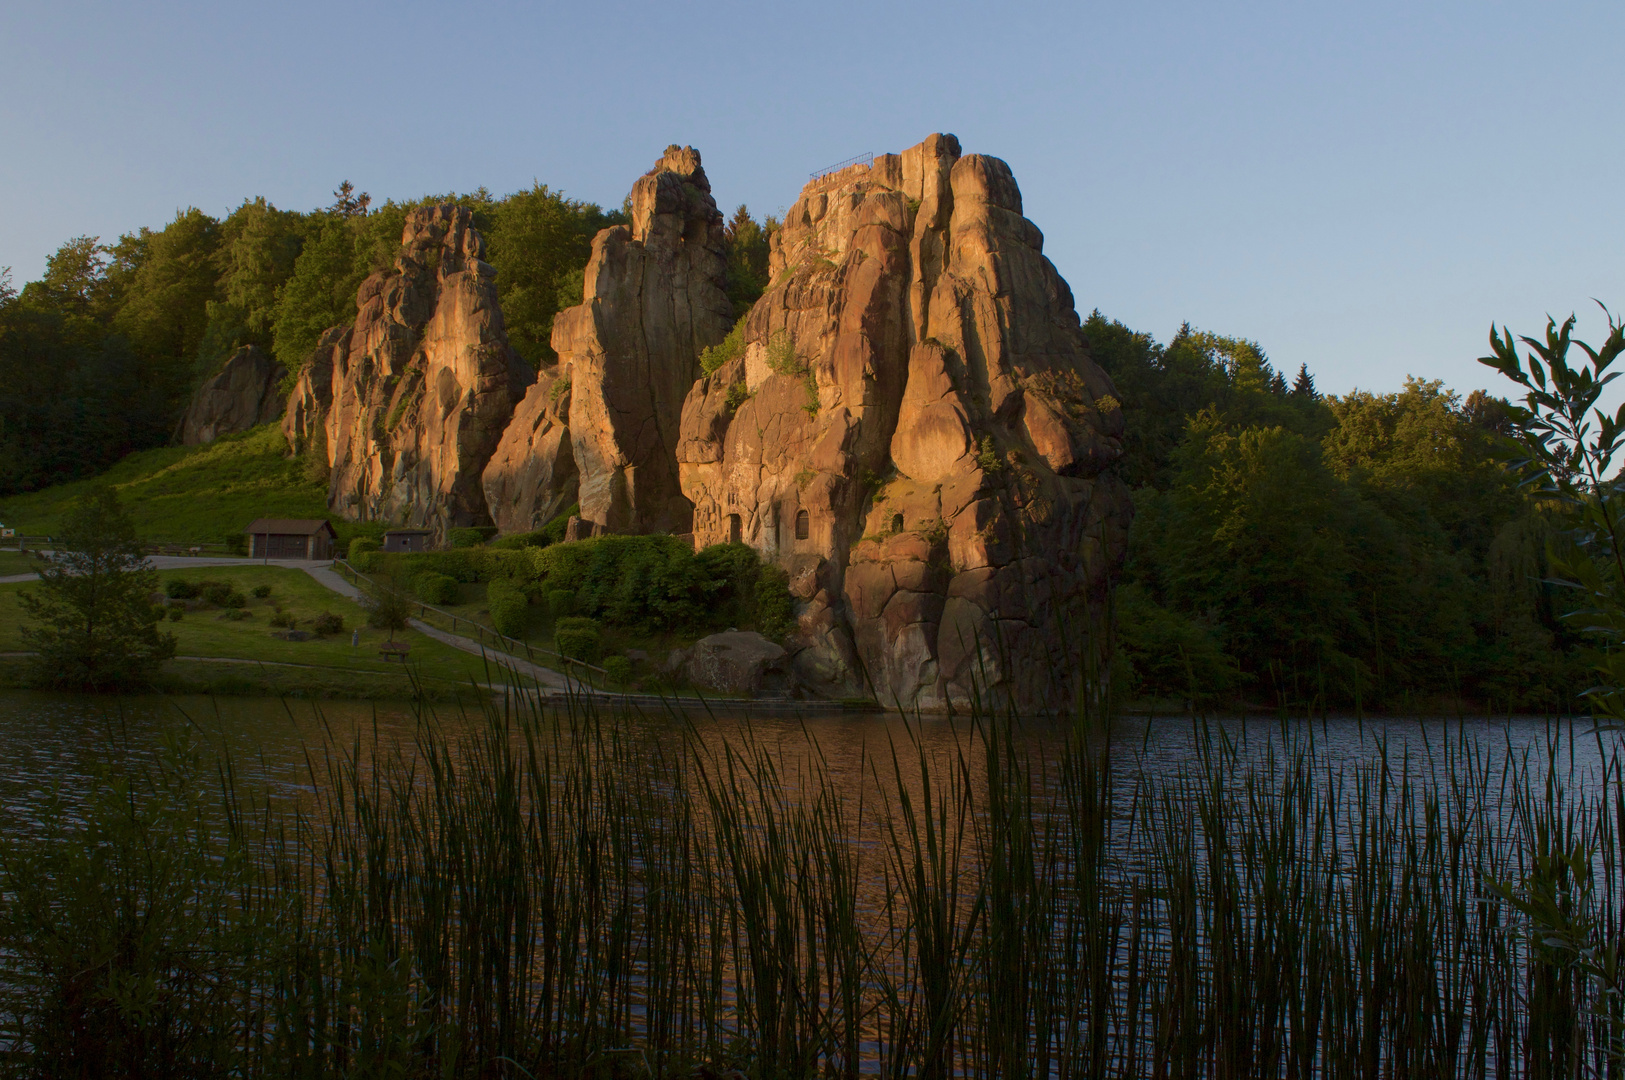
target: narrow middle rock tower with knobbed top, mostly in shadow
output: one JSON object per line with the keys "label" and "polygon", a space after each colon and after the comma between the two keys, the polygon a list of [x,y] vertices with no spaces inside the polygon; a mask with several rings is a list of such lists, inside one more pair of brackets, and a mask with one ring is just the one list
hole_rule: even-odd
{"label": "narrow middle rock tower with knobbed top, mostly in shadow", "polygon": [[632,187],[632,224],[593,239],[582,304],[552,325],[582,518],[596,529],[689,531],[678,426],[699,354],[733,326],[726,266],[699,151],[668,146]]}

